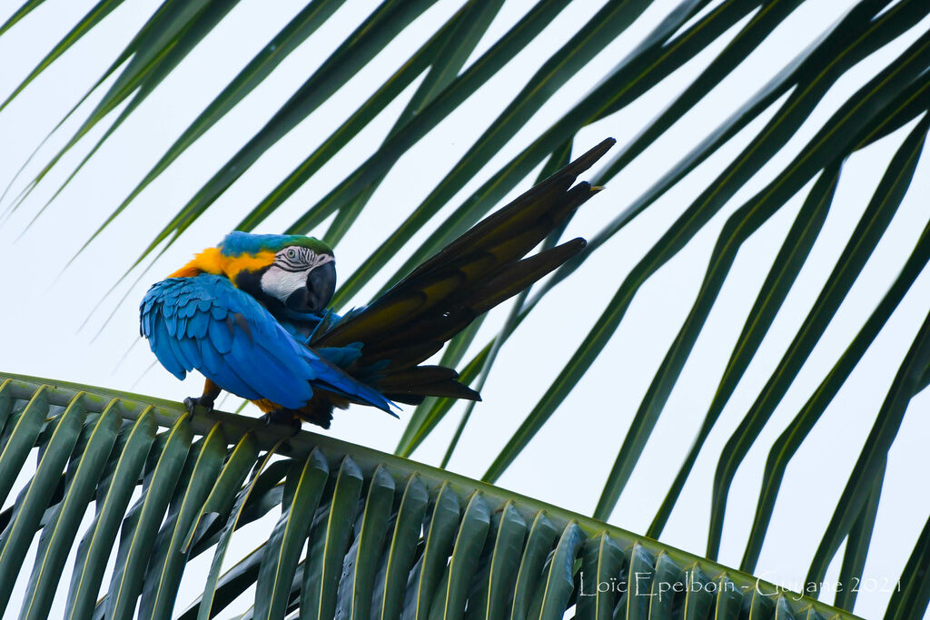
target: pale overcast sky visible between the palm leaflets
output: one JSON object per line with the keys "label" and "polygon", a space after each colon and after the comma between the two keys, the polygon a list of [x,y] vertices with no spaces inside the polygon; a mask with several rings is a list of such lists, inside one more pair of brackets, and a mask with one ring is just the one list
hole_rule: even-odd
{"label": "pale overcast sky visible between the palm leaflets", "polygon": [[[18,4],[9,3],[0,8],[0,19],[6,19],[14,5]],[[35,146],[99,77],[157,4],[154,0],[125,3],[0,113],[0,139],[4,145],[0,149],[0,186],[6,187]],[[365,12],[358,10],[358,3],[346,3],[325,27],[291,54],[262,86],[185,152],[68,270],[57,277],[77,249],[196,114],[303,5],[303,2],[294,0],[273,3],[243,0],[104,144],[31,228],[26,230],[60,181],[100,137],[106,123],[62,159],[46,182],[0,225],[0,264],[4,266],[0,282],[5,293],[4,303],[0,304],[0,324],[4,325],[0,369],[179,400],[199,394],[202,388],[199,376],[189,377],[181,383],[159,366],[150,368],[153,356],[138,335],[138,301],[145,290],[154,281],[177,269],[194,252],[217,244],[274,184],[326,139],[329,132],[460,4],[455,0],[437,2],[335,97],[272,147],[233,185],[231,191],[219,199],[206,217],[200,218],[176,244],[167,249],[164,257],[141,279],[134,274],[118,286],[113,295],[106,297],[98,310],[92,311],[139,256],[140,250],[151,241],[155,231],[173,217],[206,178],[268,120],[312,73],[313,68],[326,59],[365,17]],[[520,19],[526,4],[515,1],[505,4],[472,59]],[[563,12],[523,53],[512,59],[505,71],[468,99],[394,166],[362,218],[339,244],[337,261],[343,281],[387,232],[392,231],[406,213],[432,191],[525,85],[541,61],[590,19],[602,4],[593,0],[573,3],[570,10]],[[597,84],[675,4],[671,0],[654,2],[627,33],[606,47],[584,71],[553,96],[443,213],[449,213],[500,165],[509,161],[542,129],[577,102],[580,95]],[[715,4],[711,3],[711,7]],[[743,100],[828,28],[851,4],[851,0],[805,2],[777,33],[694,111],[614,178],[606,191],[586,204],[572,221],[566,235],[589,236],[599,231],[668,165],[697,144],[729,112],[736,110]],[[89,2],[50,0],[0,37],[0,59],[3,59],[0,62],[0,97],[6,97],[19,84],[90,5]],[[745,21],[631,106],[582,130],[576,140],[576,153],[606,136],[617,138],[620,144],[635,136],[665,102],[706,66],[743,23]],[[625,430],[697,294],[711,248],[725,218],[774,178],[830,114],[889,59],[910,45],[927,25],[927,20],[924,20],[914,32],[886,46],[841,78],[798,135],[773,158],[770,165],[752,178],[704,231],[644,285],[597,363],[498,481],[500,485],[565,508],[591,513]],[[295,193],[272,218],[263,222],[258,231],[283,231],[309,205],[363,162],[386,135],[417,84],[419,82],[366,127],[344,152],[340,152]],[[15,190],[22,188],[30,178],[30,172],[34,174],[37,170],[35,164],[44,163],[70,136],[69,130],[73,131],[77,126],[75,121],[83,120],[101,92],[91,97],[74,119],[48,141],[27,173],[14,184]],[[451,469],[472,477],[480,477],[485,472],[587,334],[631,267],[775,110],[776,106],[773,106],[708,162],[698,166],[546,298],[502,350],[483,390],[484,402],[475,408],[450,463]],[[717,428],[711,433],[662,536],[664,542],[698,555],[704,554],[711,481],[721,449],[804,320],[806,311],[817,297],[820,286],[881,178],[884,166],[910,126],[857,153],[844,166],[823,232],[761,350],[724,410]],[[930,199],[928,167],[930,164],[924,157],[918,165],[910,192],[882,243],[811,355],[802,376],[792,385],[739,468],[724,526],[720,556],[724,564],[736,566],[742,556],[765,458],[772,442],[816,389],[837,356],[855,336],[857,327],[883,295],[887,284],[910,256],[910,250],[925,224],[926,204]],[[532,184],[532,178],[527,178],[512,192],[512,196],[525,191]],[[611,523],[643,533],[652,521],[697,432],[742,322],[809,187],[792,198],[740,249],[720,299],[671,394],[636,472],[620,498]],[[8,203],[9,197],[0,204],[0,212]],[[435,225],[433,222],[432,227]],[[324,231],[326,227],[315,232],[322,235]],[[429,231],[417,239],[425,239]],[[382,277],[396,269],[404,257],[397,257],[392,269],[385,271]],[[376,288],[367,288],[355,303],[365,303]],[[126,302],[117,305],[124,296]],[[787,587],[797,587],[803,580],[823,528],[869,432],[871,420],[897,371],[897,364],[923,321],[928,297],[930,276],[924,272],[791,462],[757,574]],[[506,307],[501,309],[485,323],[477,340],[479,343],[484,344],[494,334],[507,310]],[[113,311],[112,319],[107,321]],[[88,316],[90,318],[84,324]],[[230,399],[223,403],[222,408],[234,409],[238,402]],[[864,575],[875,579],[876,587],[863,587],[857,600],[856,612],[866,617],[883,613],[889,596],[886,590],[897,581],[917,534],[930,513],[930,495],[913,492],[915,483],[923,485],[923,482],[915,481],[914,476],[915,472],[923,471],[925,463],[924,443],[930,431],[926,407],[926,394],[911,402],[889,455],[882,504]],[[328,432],[341,439],[392,451],[412,409],[405,407],[402,420],[397,421],[379,411],[353,407],[348,412],[337,413],[333,428]],[[253,410],[246,409],[246,412],[254,415]],[[415,458],[434,465],[439,463],[458,425],[460,412],[459,407],[445,418],[420,447]],[[270,518],[273,521],[276,516],[272,514]],[[270,527],[268,523],[272,521],[260,521],[255,527]],[[201,558],[188,570],[191,574],[197,570],[206,571],[208,561],[208,557]],[[839,562],[836,561],[828,574],[828,581],[835,580],[838,570]],[[59,593],[60,600],[63,600],[65,589]],[[182,593],[179,597],[179,609],[193,598],[199,586],[193,585],[190,589],[190,596]],[[18,596],[15,594],[14,598]]]}

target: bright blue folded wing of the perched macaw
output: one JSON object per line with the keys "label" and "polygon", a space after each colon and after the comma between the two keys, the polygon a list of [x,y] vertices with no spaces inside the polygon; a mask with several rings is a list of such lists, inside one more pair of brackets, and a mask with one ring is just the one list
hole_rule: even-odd
{"label": "bright blue folded wing of the perched macaw", "polygon": [[222,389],[288,409],[310,401],[315,385],[391,413],[392,402],[339,368],[358,357],[357,348],[304,347],[225,278],[201,274],[154,284],[142,299],[140,325],[159,362],[180,379],[197,369]]}

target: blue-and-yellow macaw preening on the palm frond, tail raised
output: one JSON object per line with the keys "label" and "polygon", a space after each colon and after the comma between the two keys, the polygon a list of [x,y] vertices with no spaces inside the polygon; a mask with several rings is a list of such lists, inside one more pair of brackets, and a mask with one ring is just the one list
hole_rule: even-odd
{"label": "blue-and-yellow macaw preening on the palm frond, tail raised", "polygon": [[591,151],[485,218],[384,295],[339,316],[327,310],[336,260],[302,235],[233,231],[165,280],[140,304],[140,333],[183,379],[206,376],[184,402],[212,411],[221,390],[255,402],[265,421],[329,428],[350,403],[392,416],[395,402],[426,396],[481,400],[439,365],[421,365],[477,316],[578,254],[578,238],[525,255],[600,188],[575,185],[611,146]]}

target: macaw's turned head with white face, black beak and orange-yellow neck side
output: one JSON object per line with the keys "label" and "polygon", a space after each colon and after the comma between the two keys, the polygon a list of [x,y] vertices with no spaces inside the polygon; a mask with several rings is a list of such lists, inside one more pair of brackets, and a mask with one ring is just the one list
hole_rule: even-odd
{"label": "macaw's turned head with white face, black beak and orange-yellow neck side", "polygon": [[225,275],[265,305],[301,313],[325,310],[336,290],[332,249],[303,235],[233,231],[172,275],[199,272]]}

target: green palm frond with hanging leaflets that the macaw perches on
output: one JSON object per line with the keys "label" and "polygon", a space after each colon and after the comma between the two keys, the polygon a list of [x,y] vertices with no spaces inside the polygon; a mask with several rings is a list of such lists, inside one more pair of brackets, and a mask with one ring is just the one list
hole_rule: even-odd
{"label": "green palm frond with hanging leaflets that the macaw perches on", "polygon": [[[204,590],[181,618],[222,613],[252,586],[254,604],[241,617],[549,619],[572,607],[578,618],[854,617],[643,536],[351,443],[308,432],[283,441],[277,433],[286,429],[252,418],[192,418],[178,403],[125,392],[0,380],[0,492],[9,494],[7,481],[38,457],[32,480],[0,513],[3,608],[18,574],[31,572],[21,617],[48,617],[75,544],[69,618],[131,618],[137,606],[140,617],[172,617],[187,602],[178,600],[182,578],[184,591]],[[237,534],[272,510],[280,517],[267,539]],[[30,567],[23,561],[36,534]],[[231,539],[246,535],[255,551],[219,574]],[[185,573],[211,548],[209,574]],[[624,592],[618,584],[627,582]],[[598,591],[602,583],[611,589]]]}

